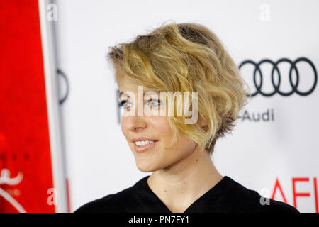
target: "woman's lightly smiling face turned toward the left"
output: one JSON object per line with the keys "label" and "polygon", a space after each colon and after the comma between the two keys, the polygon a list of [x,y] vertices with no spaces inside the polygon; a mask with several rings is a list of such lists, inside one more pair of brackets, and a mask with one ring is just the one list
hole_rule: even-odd
{"label": "woman's lightly smiling face turned toward the left", "polygon": [[[123,112],[133,108],[134,105],[137,105],[137,86],[126,82],[125,84],[121,84],[119,90],[120,92],[123,92],[123,95],[120,96],[120,102],[125,102],[121,107],[123,108]],[[132,92],[131,94],[134,94],[134,97],[125,96],[125,94],[129,94],[130,92]],[[157,106],[157,102],[155,104],[154,99],[148,101],[149,98],[150,96],[144,96],[144,99],[146,100],[144,100],[143,105],[151,105],[153,106],[153,109],[159,109],[160,106]],[[128,141],[130,150],[132,150],[135,157],[136,166],[142,172],[155,172],[170,167],[191,154],[196,148],[196,143],[189,140],[184,135],[179,135],[177,143],[171,146],[171,148],[166,148],[170,145],[173,138],[173,132],[169,126],[167,117],[145,116],[145,114],[143,114],[143,116],[138,116],[138,108],[135,108],[135,116],[124,116],[124,114],[122,114],[121,128],[123,135]],[[135,145],[135,142],[132,140],[140,137],[155,141],[146,145],[148,146],[146,150],[138,152],[139,149],[142,150],[142,148]]]}

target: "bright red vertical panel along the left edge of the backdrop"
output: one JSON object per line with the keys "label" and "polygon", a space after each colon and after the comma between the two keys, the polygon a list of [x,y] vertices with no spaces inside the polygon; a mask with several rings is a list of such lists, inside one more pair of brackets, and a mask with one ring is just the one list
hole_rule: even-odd
{"label": "bright red vertical panel along the left edge of the backdrop", "polygon": [[0,1],[0,212],[55,212],[38,0]]}

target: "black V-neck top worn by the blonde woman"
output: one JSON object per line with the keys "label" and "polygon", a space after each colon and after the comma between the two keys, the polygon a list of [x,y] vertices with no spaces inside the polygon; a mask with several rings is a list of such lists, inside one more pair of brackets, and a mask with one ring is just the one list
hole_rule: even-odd
{"label": "black V-neck top worn by the blonde woman", "polygon": [[[109,194],[101,199],[84,204],[74,212],[172,213],[152,192],[147,184],[148,177],[150,176],[143,177],[132,187],[121,192]],[[194,201],[184,213],[298,213],[298,210],[293,206],[284,202],[269,199],[269,205],[267,205],[266,201],[256,191],[247,189],[230,177],[225,176],[208,192]]]}

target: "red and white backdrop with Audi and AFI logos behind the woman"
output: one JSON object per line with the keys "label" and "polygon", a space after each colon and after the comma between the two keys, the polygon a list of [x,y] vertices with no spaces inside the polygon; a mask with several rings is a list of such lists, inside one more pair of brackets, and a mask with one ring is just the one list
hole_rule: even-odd
{"label": "red and white backdrop with Audi and AFI logos behind the woman", "polygon": [[220,173],[319,212],[319,1],[21,2],[0,3],[0,212],[74,211],[150,175],[121,132],[105,57],[169,20],[210,28],[250,86],[216,143]]}

